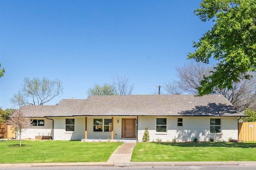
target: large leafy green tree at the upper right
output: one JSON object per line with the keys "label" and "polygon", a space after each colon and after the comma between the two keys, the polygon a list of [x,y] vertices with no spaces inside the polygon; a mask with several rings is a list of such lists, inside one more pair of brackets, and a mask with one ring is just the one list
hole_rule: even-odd
{"label": "large leafy green tree at the upper right", "polygon": [[194,42],[194,53],[189,59],[209,63],[218,61],[210,76],[204,77],[198,89],[199,96],[212,94],[216,89],[232,89],[234,82],[249,79],[256,68],[256,1],[202,0],[194,11],[202,21],[214,25],[199,42]]}

